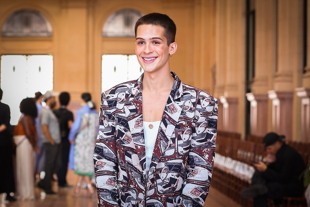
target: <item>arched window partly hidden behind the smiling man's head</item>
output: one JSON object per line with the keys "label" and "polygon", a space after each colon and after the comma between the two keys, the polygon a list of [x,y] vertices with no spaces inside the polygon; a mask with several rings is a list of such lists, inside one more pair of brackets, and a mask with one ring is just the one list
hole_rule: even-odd
{"label": "arched window partly hidden behind the smiling man's head", "polygon": [[132,9],[123,9],[111,14],[102,27],[103,37],[135,37],[135,22],[143,14]]}

